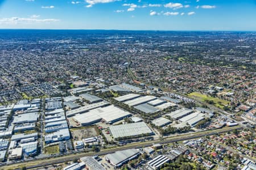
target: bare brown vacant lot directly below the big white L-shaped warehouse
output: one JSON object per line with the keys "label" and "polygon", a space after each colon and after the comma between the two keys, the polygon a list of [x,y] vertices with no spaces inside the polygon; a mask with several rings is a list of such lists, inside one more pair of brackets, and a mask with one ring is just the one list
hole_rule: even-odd
{"label": "bare brown vacant lot directly below the big white L-shaped warehouse", "polygon": [[96,126],[72,128],[71,134],[73,139],[75,139],[76,141],[80,141],[82,138],[90,138],[99,135],[96,128]]}

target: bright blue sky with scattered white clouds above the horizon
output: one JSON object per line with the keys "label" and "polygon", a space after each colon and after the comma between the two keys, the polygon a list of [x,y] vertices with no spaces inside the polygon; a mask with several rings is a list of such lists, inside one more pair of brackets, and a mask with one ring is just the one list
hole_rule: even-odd
{"label": "bright blue sky with scattered white clouds above the horizon", "polygon": [[256,31],[256,0],[0,0],[0,29]]}

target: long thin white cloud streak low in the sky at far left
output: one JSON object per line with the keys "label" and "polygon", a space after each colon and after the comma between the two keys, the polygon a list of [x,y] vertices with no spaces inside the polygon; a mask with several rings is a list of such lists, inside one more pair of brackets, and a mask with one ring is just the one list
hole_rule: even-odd
{"label": "long thin white cloud streak low in the sky at far left", "polygon": [[19,24],[19,23],[52,23],[58,22],[59,19],[38,19],[38,18],[1,18],[1,24]]}

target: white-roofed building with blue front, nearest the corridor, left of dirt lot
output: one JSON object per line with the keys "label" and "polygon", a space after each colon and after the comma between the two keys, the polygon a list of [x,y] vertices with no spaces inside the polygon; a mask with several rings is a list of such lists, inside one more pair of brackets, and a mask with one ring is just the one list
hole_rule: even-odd
{"label": "white-roofed building with blue front, nearest the corridor, left of dirt lot", "polygon": [[54,133],[47,134],[44,136],[44,141],[46,143],[58,142],[63,140],[70,139],[70,134],[68,129],[61,129],[59,131],[55,131]]}

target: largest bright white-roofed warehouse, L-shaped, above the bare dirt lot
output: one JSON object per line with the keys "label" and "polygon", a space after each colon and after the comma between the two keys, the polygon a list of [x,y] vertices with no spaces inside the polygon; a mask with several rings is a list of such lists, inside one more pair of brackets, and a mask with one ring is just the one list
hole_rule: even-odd
{"label": "largest bright white-roofed warehouse, L-shaped, above the bare dirt lot", "polygon": [[125,117],[131,116],[131,113],[123,111],[122,109],[109,105],[103,108],[97,108],[90,110],[87,113],[76,114],[73,116],[73,120],[78,122],[82,126],[92,125],[103,119],[108,124],[122,120]]}

